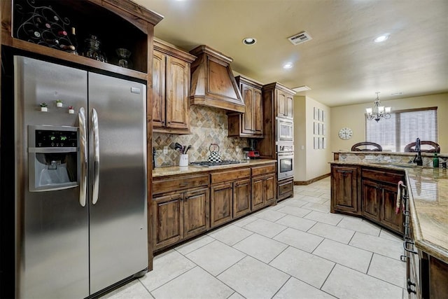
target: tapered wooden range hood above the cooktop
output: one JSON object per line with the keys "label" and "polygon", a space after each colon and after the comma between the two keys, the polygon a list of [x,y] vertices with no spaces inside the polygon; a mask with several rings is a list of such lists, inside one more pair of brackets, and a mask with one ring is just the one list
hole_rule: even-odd
{"label": "tapered wooden range hood above the cooktop", "polygon": [[244,100],[230,69],[232,58],[205,45],[190,54],[197,57],[191,64],[190,105],[243,113]]}

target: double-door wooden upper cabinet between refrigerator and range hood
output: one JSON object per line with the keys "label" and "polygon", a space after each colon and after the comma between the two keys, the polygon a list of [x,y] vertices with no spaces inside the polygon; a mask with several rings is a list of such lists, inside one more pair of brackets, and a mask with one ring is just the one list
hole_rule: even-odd
{"label": "double-door wooden upper cabinet between refrigerator and range hood", "polygon": [[190,133],[190,63],[195,56],[159,40],[153,55],[153,132]]}

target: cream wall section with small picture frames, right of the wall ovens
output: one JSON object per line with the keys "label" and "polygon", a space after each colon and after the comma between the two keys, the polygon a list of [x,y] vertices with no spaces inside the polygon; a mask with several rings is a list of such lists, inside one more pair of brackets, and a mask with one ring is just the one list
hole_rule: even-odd
{"label": "cream wall section with small picture frames, right of the wall ovens", "polygon": [[[314,149],[315,107],[325,113],[325,138],[327,139],[325,149]],[[311,97],[294,97],[294,181],[309,181],[330,173],[328,164],[332,161],[330,122],[328,106],[311,99]]]}

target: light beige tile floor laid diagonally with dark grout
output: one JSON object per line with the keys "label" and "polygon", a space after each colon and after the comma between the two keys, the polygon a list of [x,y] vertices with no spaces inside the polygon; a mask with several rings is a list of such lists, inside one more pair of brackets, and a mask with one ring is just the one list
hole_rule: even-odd
{"label": "light beige tile floor laid diagonally with dark grout", "polygon": [[155,256],[154,270],[103,298],[407,297],[402,242],[330,214],[330,179]]}

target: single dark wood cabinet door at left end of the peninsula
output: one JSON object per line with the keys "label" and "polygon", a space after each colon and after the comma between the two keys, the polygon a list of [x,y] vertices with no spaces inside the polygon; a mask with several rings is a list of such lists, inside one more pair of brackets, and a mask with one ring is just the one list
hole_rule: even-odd
{"label": "single dark wood cabinet door at left end of the peninsula", "polygon": [[332,167],[331,209],[359,214],[358,167]]}

